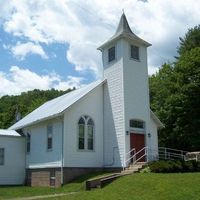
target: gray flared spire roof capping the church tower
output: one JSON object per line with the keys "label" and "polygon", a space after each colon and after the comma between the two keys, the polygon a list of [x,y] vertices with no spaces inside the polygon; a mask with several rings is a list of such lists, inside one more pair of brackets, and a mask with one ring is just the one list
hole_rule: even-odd
{"label": "gray flared spire roof capping the church tower", "polygon": [[119,39],[119,38],[128,38],[128,39],[131,39],[131,40],[134,40],[134,41],[137,41],[138,43],[148,47],[148,46],[151,46],[150,43],[144,41],[143,39],[139,38],[137,35],[135,35],[129,24],[128,24],[128,21],[126,19],[126,16],[125,14],[123,13],[121,18],[120,18],[120,21],[119,21],[119,25],[117,27],[117,30],[115,32],[115,34],[108,40],[106,41],[105,43],[103,43],[100,47],[98,47],[98,50],[102,50],[104,49],[107,45],[109,45],[110,43],[114,42],[115,40]]}

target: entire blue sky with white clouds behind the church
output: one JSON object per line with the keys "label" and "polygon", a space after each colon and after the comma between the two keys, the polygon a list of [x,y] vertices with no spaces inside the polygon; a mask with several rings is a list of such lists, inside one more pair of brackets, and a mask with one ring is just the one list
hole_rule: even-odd
{"label": "entire blue sky with white clouds behind the church", "polygon": [[179,37],[199,23],[195,0],[0,0],[0,96],[81,87],[101,78],[101,53],[122,9],[152,43],[149,74],[176,55]]}

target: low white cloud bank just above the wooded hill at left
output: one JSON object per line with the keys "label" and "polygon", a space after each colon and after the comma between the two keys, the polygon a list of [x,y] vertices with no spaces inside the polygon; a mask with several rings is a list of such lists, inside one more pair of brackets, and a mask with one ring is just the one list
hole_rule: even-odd
{"label": "low white cloud bank just above the wooded hill at left", "polygon": [[62,80],[56,73],[39,75],[28,69],[12,66],[7,74],[0,71],[0,96],[17,95],[33,89],[55,88],[66,90],[73,87],[79,88],[83,85],[83,80],[82,77],[73,76],[68,76],[66,80]]}

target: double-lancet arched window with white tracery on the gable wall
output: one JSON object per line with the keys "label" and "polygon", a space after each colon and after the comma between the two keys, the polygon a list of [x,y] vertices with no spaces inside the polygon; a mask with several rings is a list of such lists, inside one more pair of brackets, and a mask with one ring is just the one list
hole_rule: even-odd
{"label": "double-lancet arched window with white tracery on the gable wall", "polygon": [[78,121],[78,149],[94,149],[94,121],[87,115]]}

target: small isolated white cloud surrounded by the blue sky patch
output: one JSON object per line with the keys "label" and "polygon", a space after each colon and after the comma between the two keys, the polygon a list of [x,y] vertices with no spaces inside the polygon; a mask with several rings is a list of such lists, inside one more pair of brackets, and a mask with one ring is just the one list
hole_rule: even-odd
{"label": "small isolated white cloud surrounded by the blue sky patch", "polygon": [[34,44],[32,42],[18,43],[16,46],[10,47],[10,50],[14,56],[22,60],[29,54],[37,54],[44,59],[48,58],[43,48],[40,45]]}

